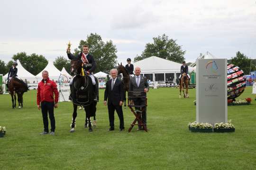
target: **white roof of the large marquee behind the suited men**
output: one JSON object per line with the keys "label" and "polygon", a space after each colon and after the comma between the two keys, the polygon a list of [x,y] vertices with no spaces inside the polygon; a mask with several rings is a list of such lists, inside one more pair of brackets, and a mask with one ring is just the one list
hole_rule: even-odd
{"label": "white roof of the large marquee behind the suited men", "polygon": [[[162,59],[159,57],[149,57],[139,60],[134,63],[135,67],[140,67],[142,73],[173,73],[181,71],[181,63],[176,63],[168,59]],[[192,67],[188,67],[189,71],[194,70]]]}

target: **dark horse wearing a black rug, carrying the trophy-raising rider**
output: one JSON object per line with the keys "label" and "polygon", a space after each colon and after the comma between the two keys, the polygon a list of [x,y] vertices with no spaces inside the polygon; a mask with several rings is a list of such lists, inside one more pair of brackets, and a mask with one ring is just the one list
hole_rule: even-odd
{"label": "dark horse wearing a black rug, carrying the trophy-raising rider", "polygon": [[[91,65],[91,64],[88,64]],[[73,102],[73,118],[70,132],[74,132],[75,120],[77,116],[77,106],[82,105],[85,110],[85,127],[89,127],[92,132],[91,117],[95,117],[97,102],[94,101],[94,93],[91,78],[87,75],[81,76],[82,60],[74,58],[71,61],[71,73],[75,74],[71,86],[71,99]]]}

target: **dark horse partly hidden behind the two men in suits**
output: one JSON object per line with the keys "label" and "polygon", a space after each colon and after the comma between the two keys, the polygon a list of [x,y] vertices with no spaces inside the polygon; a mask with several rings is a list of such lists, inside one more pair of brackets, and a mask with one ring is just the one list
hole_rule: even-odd
{"label": "dark horse partly hidden behind the two men in suits", "polygon": [[125,67],[121,64],[118,63],[118,74],[123,75],[123,87],[124,87],[124,107],[126,108],[126,92],[129,91],[129,82],[130,82],[130,75],[128,74],[128,71],[125,69]]}

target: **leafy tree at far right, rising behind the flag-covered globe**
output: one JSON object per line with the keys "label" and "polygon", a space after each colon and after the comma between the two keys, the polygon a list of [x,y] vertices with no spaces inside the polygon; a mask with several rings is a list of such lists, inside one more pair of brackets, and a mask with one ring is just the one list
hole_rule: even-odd
{"label": "leafy tree at far right, rising behind the flag-covered globe", "polygon": [[245,54],[241,53],[240,51],[237,52],[236,57],[231,58],[230,63],[238,66],[244,71],[245,74],[248,75],[250,74],[250,71],[253,71],[253,68],[255,68],[253,60],[249,59]]}

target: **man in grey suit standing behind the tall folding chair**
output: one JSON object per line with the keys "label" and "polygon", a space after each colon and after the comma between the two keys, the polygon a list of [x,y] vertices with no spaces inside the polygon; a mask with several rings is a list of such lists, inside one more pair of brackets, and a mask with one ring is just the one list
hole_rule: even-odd
{"label": "man in grey suit standing behind the tall folding chair", "polygon": [[[140,72],[141,72],[140,68],[136,67],[135,68],[135,76],[133,76],[130,79],[129,91],[148,92],[149,86],[148,86],[148,83],[146,81],[146,77],[140,76]],[[141,115],[142,115],[142,123],[144,123],[146,125],[146,97],[144,97],[144,98],[133,98],[133,102],[134,102],[135,105],[142,106],[142,107],[135,107],[136,110],[144,109],[144,111],[142,112]],[[143,130],[143,128],[140,125],[138,125],[137,130]]]}

